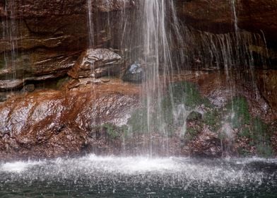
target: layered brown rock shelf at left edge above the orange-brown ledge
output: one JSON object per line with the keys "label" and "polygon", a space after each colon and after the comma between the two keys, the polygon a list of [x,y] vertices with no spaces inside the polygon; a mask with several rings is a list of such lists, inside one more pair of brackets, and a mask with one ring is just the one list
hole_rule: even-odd
{"label": "layered brown rock shelf at left edge above the orange-brown ledge", "polygon": [[[18,54],[14,59],[8,59],[4,68],[0,69],[0,82],[11,78],[36,81],[64,76],[75,64],[79,55],[80,52],[49,52],[45,50]],[[2,58],[5,61],[4,57]],[[15,64],[16,66],[14,66]]]}

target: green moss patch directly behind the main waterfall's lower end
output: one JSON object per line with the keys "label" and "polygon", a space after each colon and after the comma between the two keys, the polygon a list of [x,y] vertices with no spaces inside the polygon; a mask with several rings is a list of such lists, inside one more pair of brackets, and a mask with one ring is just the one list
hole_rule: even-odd
{"label": "green moss patch directly behind the main waterfall's lower end", "polygon": [[186,121],[182,114],[179,117],[174,116],[173,112],[177,105],[184,105],[187,110],[192,110],[202,104],[211,107],[208,99],[201,97],[196,84],[186,81],[170,83],[160,106],[157,103],[151,104],[151,113],[148,115],[145,104],[131,114],[127,124],[130,126],[130,131],[135,133],[147,132],[149,124],[151,131],[165,130],[168,134],[174,134],[175,129],[182,127]]}

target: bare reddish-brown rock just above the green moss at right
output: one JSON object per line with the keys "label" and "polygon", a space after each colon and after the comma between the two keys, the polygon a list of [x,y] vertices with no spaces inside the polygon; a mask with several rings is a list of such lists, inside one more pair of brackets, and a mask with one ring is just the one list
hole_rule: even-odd
{"label": "bare reddish-brown rock just above the green moss at right", "polygon": [[235,96],[242,96],[247,99],[249,111],[253,117],[261,117],[266,121],[275,120],[276,114],[273,109],[276,106],[269,105],[267,99],[259,92],[258,83],[263,81],[264,76],[260,76],[260,80],[253,82],[255,77],[252,74],[252,71],[245,69],[227,77],[222,71],[212,71],[194,76],[189,81],[197,83],[201,95],[208,98],[217,108],[224,107]]}

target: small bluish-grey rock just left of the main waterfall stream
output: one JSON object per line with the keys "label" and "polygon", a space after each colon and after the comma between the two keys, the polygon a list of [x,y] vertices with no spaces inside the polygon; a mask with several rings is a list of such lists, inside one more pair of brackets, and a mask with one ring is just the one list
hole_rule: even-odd
{"label": "small bluish-grey rock just left of the main waterfall stream", "polygon": [[131,64],[123,76],[124,81],[129,81],[133,83],[141,83],[145,76],[145,71],[143,70],[141,64],[135,62]]}

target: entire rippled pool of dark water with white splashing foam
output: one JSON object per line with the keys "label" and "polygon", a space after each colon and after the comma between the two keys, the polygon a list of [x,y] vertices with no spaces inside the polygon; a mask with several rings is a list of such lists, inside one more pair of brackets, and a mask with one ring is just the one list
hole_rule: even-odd
{"label": "entire rippled pool of dark water with white splashing foam", "polygon": [[0,197],[277,197],[277,160],[91,154],[0,163]]}

